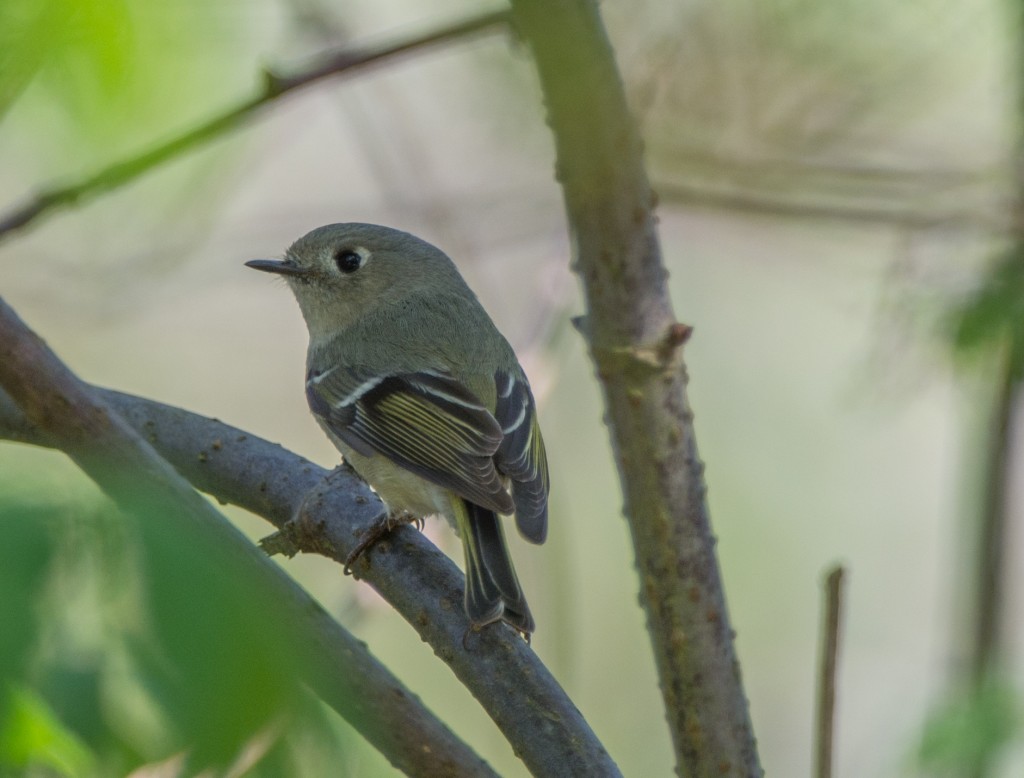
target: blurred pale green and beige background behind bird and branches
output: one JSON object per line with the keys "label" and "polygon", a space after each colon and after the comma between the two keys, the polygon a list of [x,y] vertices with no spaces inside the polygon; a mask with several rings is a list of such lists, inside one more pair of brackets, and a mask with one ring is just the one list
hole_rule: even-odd
{"label": "blurred pale green and beige background behind bird and branches", "polygon": [[[241,102],[263,68],[289,72],[332,46],[399,40],[490,7],[5,0],[0,218]],[[849,572],[837,774],[1024,774],[1019,9],[606,0],[601,10],[647,141],[676,312],[694,328],[697,440],[768,775],[810,773],[821,582],[837,562]],[[553,478],[547,545],[512,541],[534,647],[626,775],[672,774],[599,389],[568,325],[583,308],[552,140],[528,52],[509,35],[319,83],[5,235],[0,294],[84,379],[331,467],[337,452],[303,397],[298,309],[243,262],[334,221],[443,248],[516,347]],[[254,538],[270,531],[225,511]],[[129,541],[111,539],[97,491],[60,455],[0,443],[0,514],[22,532],[26,517],[45,528],[22,538],[45,564],[0,570],[10,588],[0,595],[28,614],[25,707],[62,754],[38,774],[112,775],[171,758],[180,743],[129,650],[146,621],[129,584],[140,573],[119,551]],[[992,515],[1004,524],[985,545],[1006,555],[1005,590],[985,606],[979,568],[999,568],[977,561],[977,538]],[[427,531],[461,560],[440,522]],[[8,543],[0,562],[26,559],[18,548]],[[499,772],[525,774],[365,585],[318,558],[283,564]],[[1001,617],[997,659],[979,673],[985,607]],[[311,699],[302,716],[316,726],[283,736],[294,774],[393,774]]]}

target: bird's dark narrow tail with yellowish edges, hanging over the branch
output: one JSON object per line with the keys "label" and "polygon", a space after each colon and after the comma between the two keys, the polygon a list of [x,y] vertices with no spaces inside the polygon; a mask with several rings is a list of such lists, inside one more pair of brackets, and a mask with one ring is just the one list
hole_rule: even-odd
{"label": "bird's dark narrow tail with yellowish edges, hanging over the branch", "polygon": [[459,529],[466,552],[466,614],[474,625],[507,621],[519,632],[534,632],[501,520],[494,511],[459,501]]}

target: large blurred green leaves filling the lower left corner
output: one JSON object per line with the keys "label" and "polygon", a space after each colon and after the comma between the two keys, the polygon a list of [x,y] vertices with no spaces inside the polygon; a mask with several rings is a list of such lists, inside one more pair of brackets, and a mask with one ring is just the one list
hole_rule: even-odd
{"label": "large blurred green leaves filling the lower left corner", "polygon": [[0,504],[0,775],[303,774],[347,735],[214,551],[115,509]]}

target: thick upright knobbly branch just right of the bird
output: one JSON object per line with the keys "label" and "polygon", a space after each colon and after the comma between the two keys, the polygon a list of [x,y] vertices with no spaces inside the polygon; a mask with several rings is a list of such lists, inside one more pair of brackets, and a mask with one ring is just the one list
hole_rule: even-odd
{"label": "thick upright knobbly branch just right of the bird", "polygon": [[760,776],[715,558],[653,197],[592,0],[512,0],[532,48],[587,298],[678,769]]}

